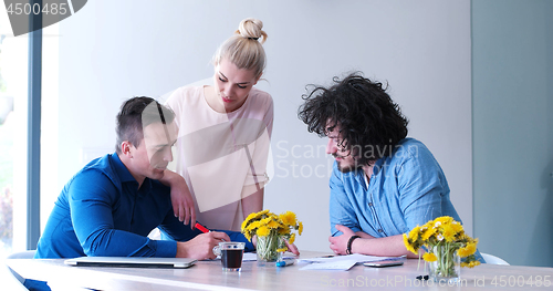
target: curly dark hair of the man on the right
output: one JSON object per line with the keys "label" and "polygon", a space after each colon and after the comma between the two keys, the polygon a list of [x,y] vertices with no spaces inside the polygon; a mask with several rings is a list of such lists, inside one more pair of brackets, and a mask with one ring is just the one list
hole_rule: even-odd
{"label": "curly dark hair of the man on the right", "polygon": [[[407,136],[407,118],[379,82],[355,72],[326,89],[317,85],[304,94],[298,117],[310,133],[323,137],[336,125],[344,149],[352,149],[357,165],[371,165],[390,156],[393,148]],[[307,90],[309,91],[309,90]]]}

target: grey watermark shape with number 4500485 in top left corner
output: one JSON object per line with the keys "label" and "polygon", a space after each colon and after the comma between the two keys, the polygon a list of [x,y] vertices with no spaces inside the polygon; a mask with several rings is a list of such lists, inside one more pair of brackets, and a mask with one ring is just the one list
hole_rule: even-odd
{"label": "grey watermark shape with number 4500485 in top left corner", "polygon": [[81,10],[87,0],[4,0],[13,37],[58,23]]}

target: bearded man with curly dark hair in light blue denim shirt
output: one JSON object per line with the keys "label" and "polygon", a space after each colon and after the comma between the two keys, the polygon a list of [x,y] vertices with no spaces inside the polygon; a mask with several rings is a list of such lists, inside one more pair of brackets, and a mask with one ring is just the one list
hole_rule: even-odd
{"label": "bearded man with curly dark hair in light blue denim shirt", "polygon": [[330,179],[331,249],[337,254],[416,257],[403,233],[440,216],[461,221],[440,165],[382,83],[353,73],[304,95],[299,117],[326,136],[335,158]]}

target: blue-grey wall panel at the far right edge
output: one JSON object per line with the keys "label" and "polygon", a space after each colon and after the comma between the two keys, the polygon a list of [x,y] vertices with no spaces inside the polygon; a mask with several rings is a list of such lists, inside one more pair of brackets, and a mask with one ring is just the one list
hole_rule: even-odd
{"label": "blue-grey wall panel at the far right edge", "polygon": [[553,267],[553,2],[472,1],[474,233]]}

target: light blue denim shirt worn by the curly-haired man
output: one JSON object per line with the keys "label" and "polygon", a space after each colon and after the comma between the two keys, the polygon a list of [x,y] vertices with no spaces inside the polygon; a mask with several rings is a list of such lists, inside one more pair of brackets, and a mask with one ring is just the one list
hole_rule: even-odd
{"label": "light blue denim shirt worn by the curly-haired man", "polygon": [[446,176],[430,150],[413,138],[403,139],[392,150],[392,156],[375,163],[368,186],[363,170],[344,174],[334,163],[331,233],[341,235],[335,225],[343,225],[382,238],[408,232],[440,216],[461,221],[449,199]]}

